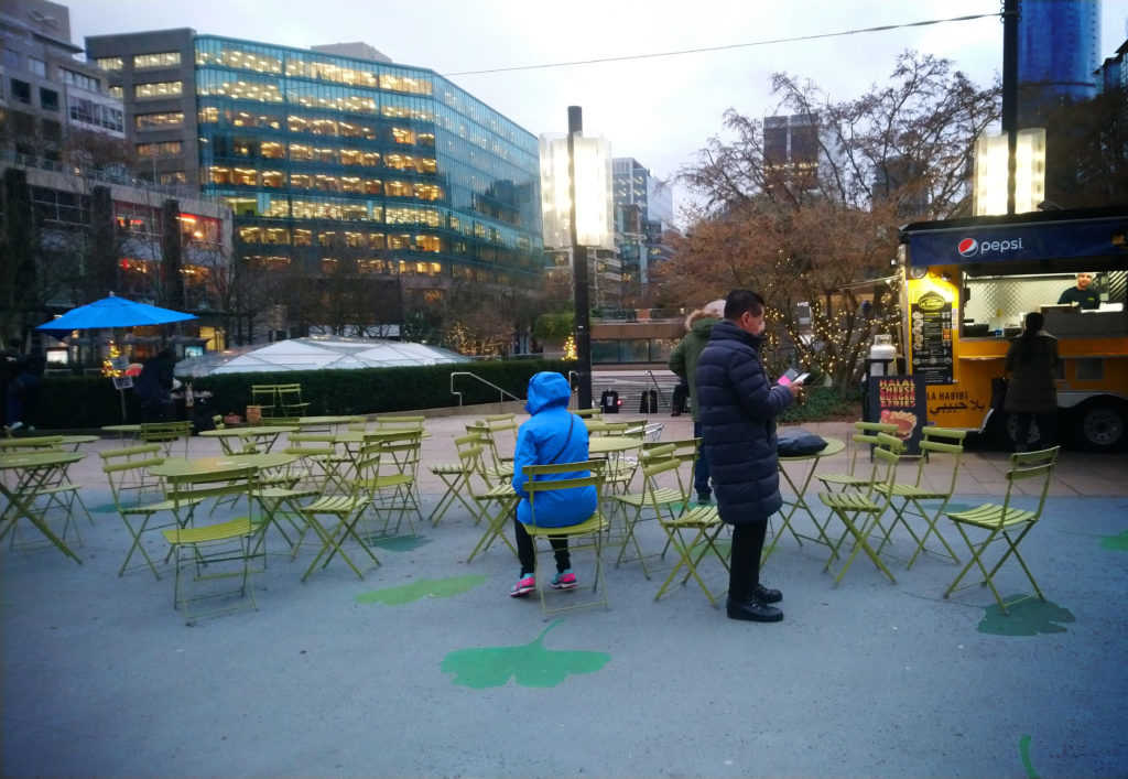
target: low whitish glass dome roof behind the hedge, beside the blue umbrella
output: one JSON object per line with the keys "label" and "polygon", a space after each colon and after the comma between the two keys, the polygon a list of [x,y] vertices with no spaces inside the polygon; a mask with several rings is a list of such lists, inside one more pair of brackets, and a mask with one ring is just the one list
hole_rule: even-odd
{"label": "low whitish glass dome roof behind the hedge, beside the blue umbrella", "polygon": [[458,352],[424,343],[376,339],[297,338],[182,360],[177,376],[254,374],[285,370],[395,368],[416,365],[468,362]]}

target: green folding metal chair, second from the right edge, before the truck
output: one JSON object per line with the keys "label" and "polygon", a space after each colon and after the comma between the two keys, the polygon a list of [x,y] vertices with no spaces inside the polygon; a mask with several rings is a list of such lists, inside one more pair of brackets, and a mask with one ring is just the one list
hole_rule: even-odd
{"label": "green folding metal chair, second from the right edge, before the truck", "polygon": [[[893,510],[893,519],[887,526],[889,533],[892,533],[895,527],[901,525],[906,531],[908,531],[908,534],[916,542],[916,549],[913,552],[913,557],[909,558],[906,568],[913,568],[913,563],[916,562],[920,552],[938,554],[959,564],[959,557],[957,557],[955,552],[952,551],[952,546],[940,532],[940,528],[936,526],[936,522],[943,515],[944,509],[948,508],[948,504],[952,500],[952,493],[955,492],[955,480],[960,473],[960,461],[963,455],[963,439],[967,436],[967,431],[925,426],[922,428],[922,455],[917,458],[916,480],[911,484],[907,482],[893,482],[892,485],[879,483],[874,485],[874,489],[882,494],[888,492],[891,499],[890,508]],[[951,476],[946,479],[946,488],[937,489],[928,487],[927,483],[925,483],[925,465],[931,465],[932,461],[936,458],[943,459],[944,457],[951,458],[952,469]],[[922,501],[933,500],[941,501],[940,506],[934,510],[928,510],[922,505]],[[918,517],[923,519],[925,524],[924,533],[918,535],[909,524],[907,517]],[[928,542],[928,536],[933,534],[935,534],[935,536],[940,540],[940,543],[943,545],[943,552],[927,548],[926,544]],[[888,541],[889,539],[887,536],[882,540],[881,545],[884,546]],[[881,548],[878,549],[878,553],[881,553]]]}

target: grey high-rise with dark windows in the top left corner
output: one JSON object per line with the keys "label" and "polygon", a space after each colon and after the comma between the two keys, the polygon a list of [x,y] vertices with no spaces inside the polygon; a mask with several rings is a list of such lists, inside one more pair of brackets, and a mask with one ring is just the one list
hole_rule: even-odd
{"label": "grey high-rise with dark windows in the top left corner", "polygon": [[0,5],[0,154],[37,168],[61,169],[79,139],[125,138],[122,103],[105,75],[80,62],[70,40],[70,11],[45,0]]}

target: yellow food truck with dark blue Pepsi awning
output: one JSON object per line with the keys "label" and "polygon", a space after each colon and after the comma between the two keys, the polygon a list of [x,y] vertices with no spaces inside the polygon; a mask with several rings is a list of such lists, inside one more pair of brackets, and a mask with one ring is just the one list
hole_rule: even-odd
{"label": "yellow food truck with dark blue Pepsi awning", "polygon": [[906,369],[924,376],[928,421],[999,443],[1013,437],[999,379],[1023,317],[1040,310],[1061,357],[1059,437],[1090,449],[1123,447],[1126,233],[1128,207],[902,227],[901,343]]}

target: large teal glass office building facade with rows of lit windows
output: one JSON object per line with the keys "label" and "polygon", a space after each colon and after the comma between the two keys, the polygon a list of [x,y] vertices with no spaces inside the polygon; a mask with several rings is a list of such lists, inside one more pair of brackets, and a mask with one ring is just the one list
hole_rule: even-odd
{"label": "large teal glass office building facade with rows of lit windows", "polygon": [[422,68],[206,35],[194,55],[200,185],[253,263],[539,279],[535,135]]}

